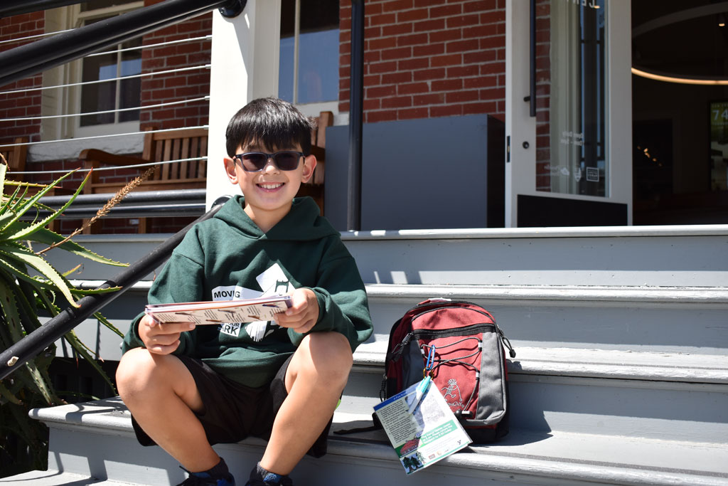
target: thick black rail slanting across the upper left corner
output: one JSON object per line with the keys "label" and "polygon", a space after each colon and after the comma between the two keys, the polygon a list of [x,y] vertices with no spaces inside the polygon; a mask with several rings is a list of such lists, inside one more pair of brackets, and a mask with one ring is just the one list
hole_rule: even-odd
{"label": "thick black rail slanting across the upper left corner", "polygon": [[0,52],[0,86],[227,4],[229,0],[165,0]]}

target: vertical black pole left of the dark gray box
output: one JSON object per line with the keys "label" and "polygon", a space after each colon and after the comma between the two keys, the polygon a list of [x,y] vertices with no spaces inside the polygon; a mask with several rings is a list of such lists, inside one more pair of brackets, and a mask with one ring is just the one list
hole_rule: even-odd
{"label": "vertical black pole left of the dark gray box", "polygon": [[362,130],[364,118],[364,0],[352,0],[352,55],[349,86],[349,179],[347,230],[361,230]]}

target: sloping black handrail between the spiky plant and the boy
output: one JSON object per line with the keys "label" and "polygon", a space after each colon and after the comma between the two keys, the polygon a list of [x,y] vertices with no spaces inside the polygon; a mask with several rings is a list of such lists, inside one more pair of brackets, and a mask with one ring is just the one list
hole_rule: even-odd
{"label": "sloping black handrail between the spiky plant and the boy", "polygon": [[173,249],[177,246],[186,232],[196,224],[205,219],[210,219],[217,213],[224,203],[223,198],[215,201],[213,208],[207,213],[200,216],[191,224],[188,224],[182,230],[178,231],[171,238],[165,240],[164,243],[154,248],[149,254],[138,259],[136,262],[126,267],[114,278],[106,281],[98,286],[98,289],[107,289],[108,287],[119,286],[121,289],[109,294],[87,295],[79,300],[80,307],[67,307],[60,314],[51,318],[47,323],[31,332],[22,340],[16,342],[6,350],[0,353],[0,380],[10,375],[16,369],[31,360],[34,356],[41,353],[42,350],[50,346],[53,342],[58,341],[74,327],[78,326],[84,319],[89,318],[104,305],[123,294],[124,291],[141,280],[144,275],[148,275],[151,270],[159,267],[172,254]]}

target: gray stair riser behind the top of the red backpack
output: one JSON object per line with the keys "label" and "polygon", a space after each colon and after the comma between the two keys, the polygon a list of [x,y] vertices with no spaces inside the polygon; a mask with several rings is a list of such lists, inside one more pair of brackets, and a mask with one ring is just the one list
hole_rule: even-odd
{"label": "gray stair riser behind the top of the red backpack", "polygon": [[[433,295],[431,297],[438,297]],[[467,299],[518,346],[728,354],[728,305],[680,302]],[[376,340],[422,299],[370,297]]]}

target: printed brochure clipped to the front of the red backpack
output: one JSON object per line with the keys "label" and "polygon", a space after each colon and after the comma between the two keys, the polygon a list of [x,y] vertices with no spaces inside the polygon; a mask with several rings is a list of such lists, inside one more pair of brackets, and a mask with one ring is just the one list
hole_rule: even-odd
{"label": "printed brochure clipped to the front of the red backpack", "polygon": [[438,388],[430,383],[426,378],[374,407],[406,474],[472,442]]}

